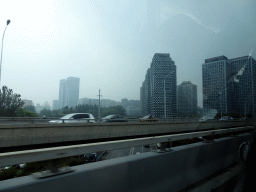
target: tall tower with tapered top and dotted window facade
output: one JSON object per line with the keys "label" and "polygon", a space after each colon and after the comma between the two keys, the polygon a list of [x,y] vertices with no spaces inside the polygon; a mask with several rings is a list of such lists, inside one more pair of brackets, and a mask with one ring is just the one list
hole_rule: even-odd
{"label": "tall tower with tapered top and dotted window facade", "polygon": [[[142,113],[177,117],[176,65],[170,54],[156,53],[141,87]],[[166,98],[164,97],[166,95]]]}

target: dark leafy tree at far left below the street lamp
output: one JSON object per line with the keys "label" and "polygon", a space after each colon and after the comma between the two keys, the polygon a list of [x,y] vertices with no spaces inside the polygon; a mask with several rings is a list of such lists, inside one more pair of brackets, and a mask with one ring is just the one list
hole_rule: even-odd
{"label": "dark leafy tree at far left below the street lamp", "polygon": [[0,116],[15,116],[15,111],[23,105],[20,94],[13,93],[7,86],[0,89]]}

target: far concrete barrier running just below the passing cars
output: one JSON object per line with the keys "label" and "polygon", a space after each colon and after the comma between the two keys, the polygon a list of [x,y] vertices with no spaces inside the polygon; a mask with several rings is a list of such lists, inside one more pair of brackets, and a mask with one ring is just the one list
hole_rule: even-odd
{"label": "far concrete barrier running just below the passing cars", "polygon": [[128,122],[102,124],[8,124],[0,125],[0,147],[84,141],[164,133],[243,127],[254,121],[216,122]]}

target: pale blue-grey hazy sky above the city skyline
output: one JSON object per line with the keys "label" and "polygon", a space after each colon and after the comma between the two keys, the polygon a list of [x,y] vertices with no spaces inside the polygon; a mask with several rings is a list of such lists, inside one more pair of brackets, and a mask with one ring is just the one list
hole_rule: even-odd
{"label": "pale blue-grey hazy sky above the city skyline", "polygon": [[1,86],[43,104],[59,81],[80,78],[80,98],[139,99],[154,53],[170,53],[178,85],[198,86],[204,59],[256,58],[255,0],[0,0]]}

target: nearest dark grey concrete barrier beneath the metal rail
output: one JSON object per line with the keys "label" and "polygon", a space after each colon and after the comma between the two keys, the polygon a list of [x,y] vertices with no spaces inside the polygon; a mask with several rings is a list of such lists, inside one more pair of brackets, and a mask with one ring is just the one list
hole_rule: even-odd
{"label": "nearest dark grey concrete barrier beneath the metal rail", "polygon": [[238,162],[239,146],[252,135],[80,165],[74,172],[40,180],[26,176],[0,181],[0,191],[180,191]]}

